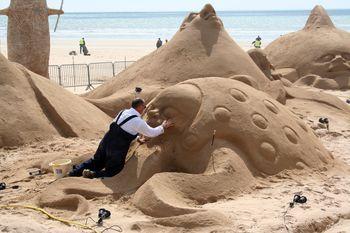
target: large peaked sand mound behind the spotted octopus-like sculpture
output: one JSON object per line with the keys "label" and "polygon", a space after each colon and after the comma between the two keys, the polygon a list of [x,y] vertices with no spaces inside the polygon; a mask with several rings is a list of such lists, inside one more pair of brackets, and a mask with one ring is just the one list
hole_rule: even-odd
{"label": "large peaked sand mound behind the spotted octopus-like sculpture", "polygon": [[[284,101],[280,81],[270,82],[251,58],[229,36],[211,5],[190,13],[179,31],[160,49],[143,57],[113,80],[85,97],[110,116],[127,107],[135,87],[149,101],[162,88],[179,82],[210,76],[236,77]],[[253,78],[242,77],[248,75]]]}

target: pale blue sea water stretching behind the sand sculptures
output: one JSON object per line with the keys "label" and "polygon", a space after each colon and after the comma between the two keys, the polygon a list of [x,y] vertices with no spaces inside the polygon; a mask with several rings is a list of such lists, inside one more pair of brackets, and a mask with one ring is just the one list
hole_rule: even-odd
{"label": "pale blue sea water stretching behind the sand sculptures", "polygon": [[[303,28],[310,11],[224,11],[218,12],[226,30],[239,42],[257,35],[269,42]],[[350,10],[329,10],[335,25],[350,31]],[[170,39],[188,12],[66,13],[53,32],[57,16],[50,16],[51,38],[75,39]],[[7,17],[0,16],[0,38],[6,38]]]}

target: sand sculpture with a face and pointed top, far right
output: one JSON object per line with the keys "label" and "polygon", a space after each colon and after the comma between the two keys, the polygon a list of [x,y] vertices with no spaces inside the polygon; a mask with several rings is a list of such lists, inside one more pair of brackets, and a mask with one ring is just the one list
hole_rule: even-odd
{"label": "sand sculpture with a face and pointed top, far right", "polygon": [[350,33],[336,28],[322,6],[312,10],[302,30],[281,36],[265,52],[277,69],[296,69],[299,84],[350,88]]}

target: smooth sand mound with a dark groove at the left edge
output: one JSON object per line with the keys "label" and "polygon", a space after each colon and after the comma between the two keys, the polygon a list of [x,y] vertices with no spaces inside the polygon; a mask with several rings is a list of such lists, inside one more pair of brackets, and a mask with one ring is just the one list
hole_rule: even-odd
{"label": "smooth sand mound with a dark groove at the left edge", "polygon": [[97,137],[110,118],[92,104],[0,55],[0,147]]}

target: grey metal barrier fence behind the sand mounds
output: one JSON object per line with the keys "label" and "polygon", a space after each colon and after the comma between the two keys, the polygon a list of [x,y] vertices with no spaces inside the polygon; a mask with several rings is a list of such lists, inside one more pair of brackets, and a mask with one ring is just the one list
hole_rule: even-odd
{"label": "grey metal barrier fence behind the sand mounds", "polygon": [[116,76],[132,63],[134,61],[50,65],[49,77],[62,87],[86,86],[89,89]]}

